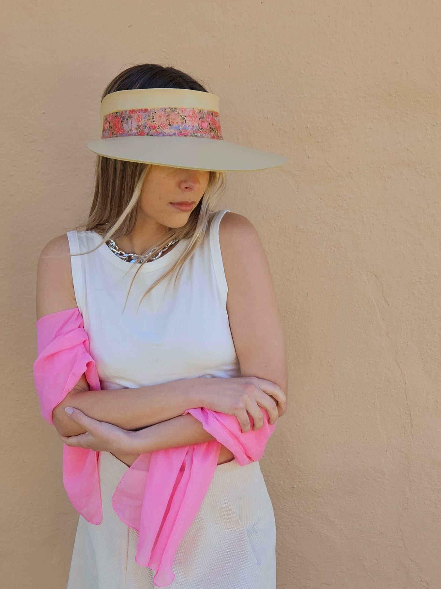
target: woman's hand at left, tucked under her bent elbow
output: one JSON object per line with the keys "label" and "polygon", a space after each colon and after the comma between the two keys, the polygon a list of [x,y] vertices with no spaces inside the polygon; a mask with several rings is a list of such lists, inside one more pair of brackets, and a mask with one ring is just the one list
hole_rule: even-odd
{"label": "woman's hand at left, tucked under her bent elbow", "polygon": [[84,434],[76,436],[62,436],[58,434],[66,446],[76,446],[79,448],[89,448],[95,452],[122,452],[131,454],[131,436],[135,433],[131,430],[118,428],[118,426],[105,421],[93,419],[80,409],[74,409],[72,413],[66,412],[66,415],[82,425],[87,431]]}

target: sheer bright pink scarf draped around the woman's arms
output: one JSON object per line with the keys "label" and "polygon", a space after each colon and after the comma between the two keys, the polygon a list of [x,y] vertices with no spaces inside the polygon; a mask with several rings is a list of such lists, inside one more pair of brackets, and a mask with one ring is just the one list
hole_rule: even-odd
{"label": "sheer bright pink scarf draped around the woman's arms", "polygon": [[[41,415],[51,425],[52,411],[85,373],[91,391],[99,391],[98,372],[78,307],[40,317],[36,322],[34,382]],[[243,433],[232,415],[205,408],[188,409],[215,439],[141,454],[123,475],[112,498],[116,514],[139,532],[135,561],[156,571],[153,583],[173,582],[176,550],[196,517],[211,483],[220,446],[240,466],[259,460],[275,425],[263,411],[263,427]],[[91,524],[102,519],[98,455],[64,444],[63,483],[72,505]]]}

